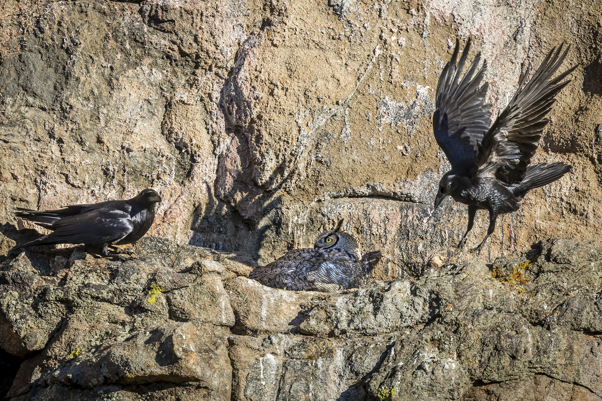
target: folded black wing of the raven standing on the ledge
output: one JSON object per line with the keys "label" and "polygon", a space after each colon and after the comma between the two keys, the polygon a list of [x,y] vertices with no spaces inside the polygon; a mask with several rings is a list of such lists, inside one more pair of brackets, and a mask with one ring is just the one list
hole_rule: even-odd
{"label": "folded black wing of the raven standing on the ledge", "polygon": [[134,229],[128,213],[121,210],[101,209],[67,216],[51,227],[52,233],[19,246],[46,245],[53,243],[106,243],[119,240]]}

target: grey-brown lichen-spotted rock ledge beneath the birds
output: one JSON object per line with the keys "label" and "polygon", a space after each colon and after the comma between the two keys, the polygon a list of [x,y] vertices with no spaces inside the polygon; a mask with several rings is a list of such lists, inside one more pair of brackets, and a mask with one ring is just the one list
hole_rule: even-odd
{"label": "grey-brown lichen-spotted rock ledge beneath the birds", "polygon": [[338,293],[262,286],[241,253],[155,237],[134,249],[126,262],[5,256],[1,346],[21,358],[5,358],[18,367],[8,399],[602,399],[592,242],[542,240],[489,266]]}

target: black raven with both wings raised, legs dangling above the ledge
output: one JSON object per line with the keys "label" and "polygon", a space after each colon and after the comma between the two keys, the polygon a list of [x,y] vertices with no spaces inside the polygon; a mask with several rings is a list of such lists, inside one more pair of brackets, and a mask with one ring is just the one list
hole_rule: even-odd
{"label": "black raven with both wings raised, legs dangling above the ledge", "polygon": [[456,66],[459,47],[456,39],[452,60],[443,69],[437,84],[433,131],[452,170],[445,173],[439,182],[435,209],[448,195],[468,205],[468,228],[458,248],[473,228],[477,209],[488,210],[487,235],[479,246],[472,249],[480,253],[495,230],[498,215],[515,212],[527,192],[559,179],[571,169],[561,162],[549,165],[529,165],[529,162],[548,124],[545,115],[556,101],[554,97],[570,82],[561,81],[577,66],[551,79],[571,46],[563,53],[562,44],[557,51],[554,47],[525,84],[530,71],[527,69],[517,93],[489,127],[491,103],[485,104],[484,101],[488,83],[479,88],[487,63],[485,61],[474,75],[480,60],[480,53],[477,54],[464,78],[460,79],[470,51],[470,40]]}

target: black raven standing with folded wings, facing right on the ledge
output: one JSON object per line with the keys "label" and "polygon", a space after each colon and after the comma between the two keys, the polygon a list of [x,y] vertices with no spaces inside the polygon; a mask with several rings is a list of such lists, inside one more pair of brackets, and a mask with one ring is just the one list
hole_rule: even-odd
{"label": "black raven standing with folded wings, facing right on the ledge", "polygon": [[[99,245],[103,257],[123,251],[108,251],[109,244],[136,242],[151,228],[155,219],[155,203],[161,197],[154,189],[144,189],[128,200],[91,204],[73,204],[58,210],[31,210],[17,207],[16,218],[34,221],[52,233],[13,249],[24,246],[55,243],[84,243]],[[114,247],[113,247],[114,248]]]}

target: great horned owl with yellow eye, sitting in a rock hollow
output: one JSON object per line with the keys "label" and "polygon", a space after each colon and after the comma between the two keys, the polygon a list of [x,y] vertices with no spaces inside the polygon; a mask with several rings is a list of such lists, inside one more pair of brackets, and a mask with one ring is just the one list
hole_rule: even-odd
{"label": "great horned owl with yellow eye, sitting in a rock hollow", "polygon": [[324,227],[314,249],[293,249],[266,266],[259,266],[249,278],[264,286],[291,291],[335,292],[359,287],[362,259],[358,242],[341,231],[343,219],[334,228]]}

